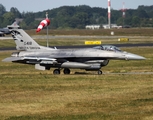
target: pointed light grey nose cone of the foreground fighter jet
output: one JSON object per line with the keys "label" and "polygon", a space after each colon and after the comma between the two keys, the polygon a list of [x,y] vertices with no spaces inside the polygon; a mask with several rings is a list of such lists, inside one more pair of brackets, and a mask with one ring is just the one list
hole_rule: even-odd
{"label": "pointed light grey nose cone of the foreground fighter jet", "polygon": [[145,60],[145,57],[136,55],[136,54],[132,54],[132,53],[127,53],[126,55],[126,60]]}

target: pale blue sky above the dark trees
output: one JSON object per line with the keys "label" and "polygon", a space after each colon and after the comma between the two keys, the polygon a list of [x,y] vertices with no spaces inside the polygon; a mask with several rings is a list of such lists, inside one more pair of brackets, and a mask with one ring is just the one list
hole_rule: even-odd
{"label": "pale blue sky above the dark trees", "polygon": [[[120,10],[123,7],[123,2],[127,9],[137,9],[139,5],[153,5],[153,0],[111,0],[111,8]],[[107,8],[108,0],[0,0],[0,4],[7,11],[10,11],[11,7],[16,7],[20,12],[39,12],[65,5]]]}

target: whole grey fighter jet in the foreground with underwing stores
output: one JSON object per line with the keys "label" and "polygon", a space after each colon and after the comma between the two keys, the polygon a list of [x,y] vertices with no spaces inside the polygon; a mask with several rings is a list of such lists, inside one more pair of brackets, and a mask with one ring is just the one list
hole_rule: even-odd
{"label": "whole grey fighter jet in the foreground with underwing stores", "polygon": [[19,26],[8,26],[16,43],[17,52],[5,58],[5,62],[35,65],[38,70],[53,70],[53,74],[70,74],[70,69],[97,71],[108,65],[109,60],[144,60],[145,58],[128,52],[107,51],[104,49],[57,49],[40,46]]}

